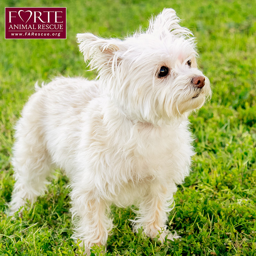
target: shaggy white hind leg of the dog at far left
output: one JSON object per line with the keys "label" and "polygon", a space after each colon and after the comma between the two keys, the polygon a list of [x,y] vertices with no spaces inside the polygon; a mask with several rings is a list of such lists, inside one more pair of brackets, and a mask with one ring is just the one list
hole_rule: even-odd
{"label": "shaggy white hind leg of the dog at far left", "polygon": [[42,132],[39,130],[37,115],[35,111],[33,113],[27,111],[27,108],[16,127],[12,158],[16,182],[9,203],[9,215],[13,215],[24,206],[27,200],[33,203],[37,196],[44,192],[46,178],[50,173],[51,160]]}

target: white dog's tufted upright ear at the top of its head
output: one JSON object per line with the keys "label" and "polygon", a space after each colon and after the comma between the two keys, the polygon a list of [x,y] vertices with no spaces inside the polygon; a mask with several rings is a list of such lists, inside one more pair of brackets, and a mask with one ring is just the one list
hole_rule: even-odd
{"label": "white dog's tufted upright ear at the top of its head", "polygon": [[159,35],[161,38],[169,33],[174,36],[190,37],[193,36],[192,32],[187,28],[181,27],[179,22],[181,20],[176,16],[174,9],[163,9],[162,13],[149,21],[149,28],[147,33]]}

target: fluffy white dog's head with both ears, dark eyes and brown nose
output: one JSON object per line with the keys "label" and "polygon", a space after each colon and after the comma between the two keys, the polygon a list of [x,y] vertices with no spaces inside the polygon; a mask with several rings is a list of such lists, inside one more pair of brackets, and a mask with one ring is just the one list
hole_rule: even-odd
{"label": "fluffy white dog's head with both ears, dark eyes and brown nose", "polygon": [[173,9],[164,9],[146,31],[124,40],[77,34],[102,90],[132,119],[169,123],[210,95],[210,82],[197,68],[193,35],[179,22]]}

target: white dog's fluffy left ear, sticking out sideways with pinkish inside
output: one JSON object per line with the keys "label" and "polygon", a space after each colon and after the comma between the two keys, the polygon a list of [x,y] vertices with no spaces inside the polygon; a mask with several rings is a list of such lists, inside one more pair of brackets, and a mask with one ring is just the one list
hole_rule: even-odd
{"label": "white dog's fluffy left ear, sticking out sideways with pinkish inside", "polygon": [[77,42],[85,61],[91,60],[91,66],[95,69],[112,66],[115,53],[118,52],[121,44],[119,39],[99,38],[91,33],[77,34]]}

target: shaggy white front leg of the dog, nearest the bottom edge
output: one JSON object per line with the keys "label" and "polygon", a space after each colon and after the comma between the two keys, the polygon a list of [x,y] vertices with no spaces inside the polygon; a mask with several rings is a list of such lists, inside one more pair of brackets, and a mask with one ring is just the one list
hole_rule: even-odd
{"label": "shaggy white front leg of the dog, nearest the bottom edge", "polygon": [[[74,239],[80,239],[85,252],[90,255],[94,245],[105,245],[108,231],[112,229],[112,220],[108,218],[108,204],[94,191],[74,188],[71,192],[72,220],[74,221]],[[83,244],[82,244],[83,246]]]}

